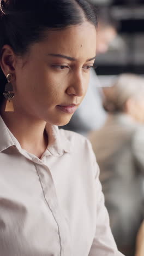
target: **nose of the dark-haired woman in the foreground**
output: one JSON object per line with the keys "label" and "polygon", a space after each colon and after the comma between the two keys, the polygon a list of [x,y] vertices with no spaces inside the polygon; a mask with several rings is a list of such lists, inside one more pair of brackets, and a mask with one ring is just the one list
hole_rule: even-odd
{"label": "nose of the dark-haired woman in the foreground", "polygon": [[66,92],[68,95],[82,97],[85,95],[87,90],[86,78],[83,77],[82,73],[73,73],[70,79],[70,85]]}

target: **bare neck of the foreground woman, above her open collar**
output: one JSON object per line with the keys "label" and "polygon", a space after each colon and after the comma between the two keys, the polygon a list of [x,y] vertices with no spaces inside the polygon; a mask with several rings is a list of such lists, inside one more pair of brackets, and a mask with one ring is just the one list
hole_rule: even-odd
{"label": "bare neck of the foreground woman, above her open collar", "polygon": [[48,145],[45,131],[46,122],[21,115],[18,112],[4,112],[3,109],[1,116],[9,130],[19,141],[21,148],[41,158]]}

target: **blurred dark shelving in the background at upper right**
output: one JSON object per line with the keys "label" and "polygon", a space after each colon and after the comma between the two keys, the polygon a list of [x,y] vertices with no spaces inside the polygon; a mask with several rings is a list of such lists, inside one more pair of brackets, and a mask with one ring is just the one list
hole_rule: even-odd
{"label": "blurred dark shelving in the background at upper right", "polygon": [[[101,86],[109,86],[113,75],[144,74],[144,0],[91,0],[98,7],[109,7],[119,23],[118,36],[109,51],[97,56],[96,72]],[[105,77],[106,75],[106,77]]]}

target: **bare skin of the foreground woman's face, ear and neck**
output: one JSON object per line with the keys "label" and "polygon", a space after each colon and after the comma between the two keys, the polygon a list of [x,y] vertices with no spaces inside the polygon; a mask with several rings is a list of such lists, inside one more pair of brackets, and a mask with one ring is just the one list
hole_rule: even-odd
{"label": "bare skin of the foreground woman's face, ear and neck", "polygon": [[51,126],[69,122],[73,114],[62,112],[58,106],[76,104],[77,108],[85,97],[96,40],[94,25],[84,21],[82,25],[47,33],[21,57],[9,45],[3,46],[1,67],[5,75],[13,75],[15,97],[14,112],[4,112],[4,102],[1,115],[29,153],[40,158],[47,148],[46,123]]}

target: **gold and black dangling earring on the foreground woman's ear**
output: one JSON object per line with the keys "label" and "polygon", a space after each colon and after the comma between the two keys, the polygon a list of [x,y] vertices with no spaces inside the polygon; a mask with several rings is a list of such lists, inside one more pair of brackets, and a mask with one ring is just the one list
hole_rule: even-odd
{"label": "gold and black dangling earring on the foreground woman's ear", "polygon": [[5,106],[5,112],[14,112],[14,106],[13,106],[13,101],[12,99],[14,98],[14,90],[13,90],[13,85],[10,83],[12,79],[12,75],[8,74],[7,75],[7,80],[8,83],[5,84],[5,92],[3,92],[4,97],[7,99],[7,103]]}

